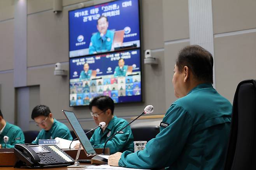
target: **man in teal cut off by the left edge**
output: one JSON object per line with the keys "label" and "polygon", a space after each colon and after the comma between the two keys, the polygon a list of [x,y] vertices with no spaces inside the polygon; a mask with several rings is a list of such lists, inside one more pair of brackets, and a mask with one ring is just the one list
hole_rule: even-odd
{"label": "man in teal cut off by the left edge", "polygon": [[[9,138],[6,143],[4,136]],[[21,128],[5,121],[0,110],[0,148],[12,148],[15,144],[24,144],[24,142],[25,137]]]}

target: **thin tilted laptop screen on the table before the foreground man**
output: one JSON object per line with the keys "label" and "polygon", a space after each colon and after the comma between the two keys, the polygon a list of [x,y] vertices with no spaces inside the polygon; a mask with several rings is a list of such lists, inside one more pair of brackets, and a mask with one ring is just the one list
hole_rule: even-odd
{"label": "thin tilted laptop screen on the table before the foreground man", "polygon": [[91,145],[91,142],[89,141],[88,137],[84,133],[84,130],[81,127],[81,124],[77,120],[77,117],[75,116],[74,112],[62,110],[65,117],[67,118],[70,126],[72,127],[73,131],[75,132],[75,135],[77,136],[77,139],[81,143],[82,148],[86,152],[87,156],[94,156],[91,158],[92,164],[107,164],[108,156],[105,154],[96,154],[93,146]]}

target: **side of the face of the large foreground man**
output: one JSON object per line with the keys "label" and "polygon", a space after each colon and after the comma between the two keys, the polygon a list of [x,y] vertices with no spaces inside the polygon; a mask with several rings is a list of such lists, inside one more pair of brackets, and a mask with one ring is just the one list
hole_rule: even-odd
{"label": "side of the face of the large foreground man", "polygon": [[174,86],[174,94],[176,97],[184,97],[184,72],[179,72],[178,67],[175,64],[174,75],[172,78],[172,84]]}

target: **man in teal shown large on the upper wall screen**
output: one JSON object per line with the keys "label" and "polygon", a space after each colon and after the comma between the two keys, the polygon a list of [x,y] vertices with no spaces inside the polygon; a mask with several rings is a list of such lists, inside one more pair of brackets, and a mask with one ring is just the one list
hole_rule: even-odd
{"label": "man in teal shown large on the upper wall screen", "polygon": [[107,21],[107,17],[100,16],[100,18],[97,20],[98,32],[91,36],[89,54],[96,54],[111,50],[115,33],[114,31],[107,29],[108,27],[109,22]]}

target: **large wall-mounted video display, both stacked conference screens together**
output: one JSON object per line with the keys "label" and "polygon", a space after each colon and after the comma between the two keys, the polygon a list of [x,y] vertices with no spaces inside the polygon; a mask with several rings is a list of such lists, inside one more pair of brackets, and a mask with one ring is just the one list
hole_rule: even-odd
{"label": "large wall-mounted video display, both stacked conference screens together", "polygon": [[[69,11],[70,106],[108,95],[141,102],[139,0]],[[121,60],[119,60],[121,59]]]}

